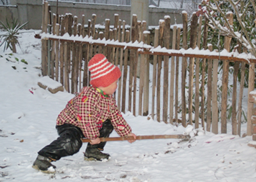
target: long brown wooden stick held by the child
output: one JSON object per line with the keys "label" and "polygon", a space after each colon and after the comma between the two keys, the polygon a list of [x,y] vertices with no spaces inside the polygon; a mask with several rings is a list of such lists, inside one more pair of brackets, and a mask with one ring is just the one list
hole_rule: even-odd
{"label": "long brown wooden stick held by the child", "polygon": [[[151,136],[137,136],[136,139],[167,139],[167,138],[175,138],[175,139],[185,139],[188,136],[184,136],[183,134],[162,134],[162,135],[151,135]],[[100,138],[101,142],[107,141],[125,141],[125,140],[133,140],[133,137],[109,137],[109,138]],[[82,142],[90,142],[90,139],[82,138]]]}

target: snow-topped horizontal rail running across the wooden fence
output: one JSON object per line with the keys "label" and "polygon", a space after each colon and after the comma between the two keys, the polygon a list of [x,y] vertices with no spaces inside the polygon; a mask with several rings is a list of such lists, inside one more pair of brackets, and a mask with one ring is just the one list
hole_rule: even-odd
{"label": "snow-topped horizontal rail running across the wooden fence", "polygon": [[[69,36],[69,35],[68,35]],[[65,38],[66,37],[66,38]],[[63,41],[69,43],[77,43],[77,44],[89,44],[89,45],[97,45],[97,46],[108,46],[112,48],[122,48],[122,49],[135,49],[139,54],[151,54],[151,55],[159,55],[159,56],[176,56],[176,57],[189,57],[189,58],[205,58],[205,59],[215,59],[215,60],[228,60],[231,62],[241,61],[247,64],[256,63],[256,58],[251,58],[250,54],[246,54],[241,56],[236,52],[227,53],[226,50],[218,53],[216,51],[210,50],[199,50],[196,49],[166,49],[166,48],[154,48],[154,46],[143,44],[143,43],[120,43],[119,41],[113,40],[100,40],[93,39],[93,37],[84,37],[81,36],[67,37],[67,36],[56,36],[50,34],[42,34],[41,39],[45,40],[53,40],[53,41]]]}

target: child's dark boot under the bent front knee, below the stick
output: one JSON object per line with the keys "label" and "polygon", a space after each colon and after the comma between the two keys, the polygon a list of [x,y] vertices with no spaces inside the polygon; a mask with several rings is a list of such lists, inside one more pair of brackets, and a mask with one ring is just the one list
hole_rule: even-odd
{"label": "child's dark boot under the bent front knee, below the stick", "polygon": [[98,148],[97,145],[93,146],[88,143],[87,148],[84,153],[84,159],[85,160],[104,160],[109,159],[110,155],[102,153]]}

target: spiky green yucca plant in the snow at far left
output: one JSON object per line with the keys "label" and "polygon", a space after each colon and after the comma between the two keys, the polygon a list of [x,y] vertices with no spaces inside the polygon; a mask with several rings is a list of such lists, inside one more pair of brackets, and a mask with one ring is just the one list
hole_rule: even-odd
{"label": "spiky green yucca plant in the snow at far left", "polygon": [[13,23],[11,24],[8,22],[7,18],[6,18],[6,24],[0,21],[1,26],[6,31],[2,35],[0,35],[0,46],[2,46],[3,44],[5,45],[3,48],[3,51],[10,48],[11,50],[13,50],[13,53],[16,53],[16,44],[18,44],[20,47],[20,44],[18,41],[18,35],[19,33],[22,33],[20,32],[20,29],[26,26],[27,23],[28,22],[23,23],[20,26],[20,24],[18,23],[18,19],[13,19]]}

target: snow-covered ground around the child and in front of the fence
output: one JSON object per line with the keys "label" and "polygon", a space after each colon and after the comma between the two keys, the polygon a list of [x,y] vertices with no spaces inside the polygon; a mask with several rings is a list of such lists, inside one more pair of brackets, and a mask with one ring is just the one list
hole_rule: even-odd
{"label": "snow-covered ground around the child and in front of the fence", "polygon": [[[202,129],[193,130],[197,136],[188,141],[108,142],[105,152],[112,156],[108,162],[85,161],[84,143],[79,153],[53,163],[55,175],[34,170],[37,152],[57,137],[56,117],[73,97],[68,92],[51,94],[38,86],[41,52],[34,34],[20,37],[23,52],[18,48],[11,55],[0,48],[0,181],[256,181],[256,149],[247,146],[251,137],[214,135]],[[129,112],[123,116],[138,136],[183,134],[190,129]],[[111,137],[115,136],[113,132]]]}

